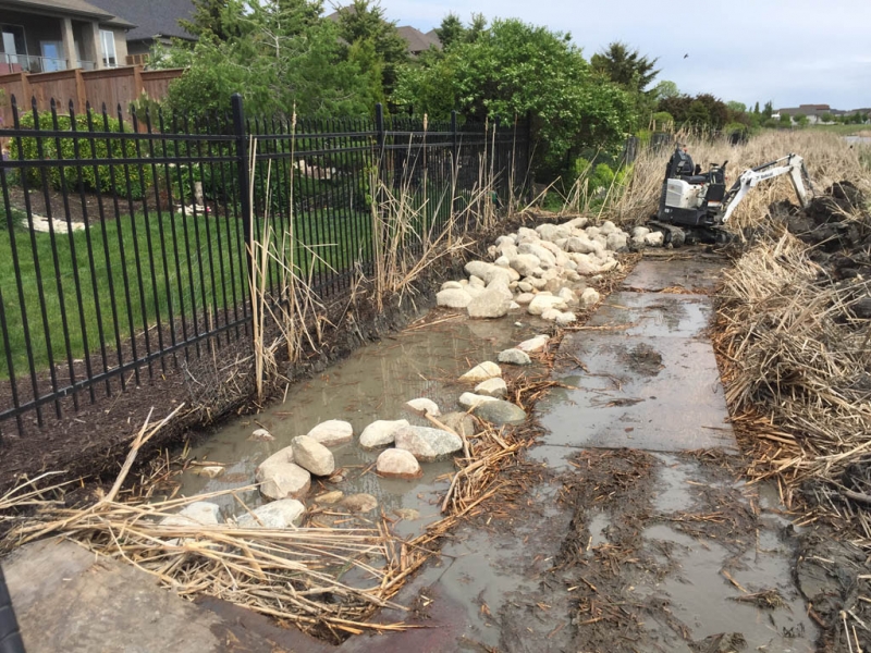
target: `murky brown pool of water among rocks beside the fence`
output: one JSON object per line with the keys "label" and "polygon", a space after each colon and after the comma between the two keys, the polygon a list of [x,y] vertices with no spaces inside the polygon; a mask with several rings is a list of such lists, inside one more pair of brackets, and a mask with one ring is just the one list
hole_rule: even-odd
{"label": "murky brown pool of water among rocks beside the fence", "polygon": [[[292,387],[284,401],[269,405],[256,416],[223,424],[194,448],[192,456],[226,465],[225,472],[216,479],[185,473],[181,491],[193,495],[248,485],[254,482],[254,471],[263,459],[329,419],[351,422],[357,435],[378,419],[407,419],[415,424],[432,426],[404,404],[416,397],[428,397],[442,412],[461,410],[456,399],[470,389],[456,383],[456,378],[481,361],[495,360],[499,352],[531,337],[538,333],[537,328],[543,325],[530,323],[528,316],[468,321],[437,312],[427,319],[438,321],[444,317],[449,319],[422,328],[413,325],[363,347],[322,374]],[[520,322],[516,321],[518,318]],[[260,427],[275,440],[250,441],[252,432]],[[407,508],[418,510],[419,520],[398,525],[401,534],[417,532],[440,517],[439,495],[447,486],[445,475],[454,469],[451,461],[422,465],[420,479],[388,480],[379,478],[371,469],[380,452],[364,451],[356,441],[332,451],[336,468],[344,468],[346,479],[339,484],[314,481],[309,497],[332,490],[345,494],[365,492],[378,498],[388,514]],[[249,507],[261,502],[256,491],[244,493],[242,498]],[[222,507],[225,514],[241,512],[232,497],[223,497]]]}

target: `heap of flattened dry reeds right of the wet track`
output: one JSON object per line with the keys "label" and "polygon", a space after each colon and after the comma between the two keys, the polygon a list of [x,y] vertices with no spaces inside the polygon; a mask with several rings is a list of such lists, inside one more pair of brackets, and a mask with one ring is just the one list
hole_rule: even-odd
{"label": "heap of flattened dry reeds right of the wet track", "polygon": [[782,232],[725,274],[715,346],[733,421],[785,504],[871,549],[871,295],[861,275],[834,281]]}

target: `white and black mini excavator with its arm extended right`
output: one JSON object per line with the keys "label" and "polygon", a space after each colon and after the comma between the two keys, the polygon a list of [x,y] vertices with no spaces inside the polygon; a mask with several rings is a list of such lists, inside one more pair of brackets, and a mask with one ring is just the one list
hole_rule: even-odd
{"label": "white and black mini excavator with its arm extended right", "polygon": [[[723,225],[751,188],[760,182],[788,174],[802,208],[807,208],[813,185],[798,155],[744,171],[726,190],[726,163],[712,163],[708,172],[692,163],[686,148],[677,146],[665,169],[660,206],[648,226],[663,233],[665,244],[679,247],[684,243],[726,243]],[[807,183],[807,186],[806,186]]]}

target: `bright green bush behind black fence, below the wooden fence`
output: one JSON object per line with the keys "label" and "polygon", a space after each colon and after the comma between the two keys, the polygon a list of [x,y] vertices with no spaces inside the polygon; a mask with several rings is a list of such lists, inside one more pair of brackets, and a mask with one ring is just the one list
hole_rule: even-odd
{"label": "bright green bush behind black fence, below the wooden fence", "polygon": [[[94,131],[96,133],[106,131],[106,123],[101,115],[91,113]],[[58,116],[58,131],[70,132],[71,123],[69,115]],[[25,130],[34,130],[34,114],[28,112],[21,119],[21,126]],[[108,119],[109,132],[121,132],[121,123],[114,119]],[[54,130],[50,112],[39,114],[40,130]],[[79,133],[88,133],[88,116],[79,114],[75,118],[75,130]],[[130,132],[130,127],[124,131]],[[41,141],[41,143],[40,143]],[[60,141],[60,156],[58,145]],[[76,145],[77,143],[77,145]],[[41,151],[40,151],[41,147]],[[21,148],[21,150],[19,150]],[[77,148],[77,151],[76,151]],[[136,158],[136,144],[130,139],[122,138],[54,138],[54,137],[23,137],[13,138],[11,147],[12,158],[17,159],[24,155],[24,159],[29,160],[57,160],[62,159],[73,164],[59,163],[59,165],[40,169],[25,169],[27,181],[34,186],[42,183],[41,170],[48,173],[49,183],[56,189],[61,189],[64,185],[68,189],[76,189],[81,186],[86,190],[99,190],[107,195],[127,196],[127,175],[130,175],[130,188],[133,199],[142,199],[143,187],[148,189],[151,185],[151,170],[149,165],[127,165],[124,164],[100,164],[88,165],[90,159],[113,159]],[[126,170],[125,170],[126,168]],[[63,178],[61,178],[63,174]],[[99,182],[99,183],[98,183]]]}

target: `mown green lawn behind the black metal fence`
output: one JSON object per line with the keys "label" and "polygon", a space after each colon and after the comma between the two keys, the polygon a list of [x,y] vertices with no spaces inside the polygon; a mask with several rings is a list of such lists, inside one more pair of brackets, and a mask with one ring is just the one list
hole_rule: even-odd
{"label": "mown green lawn behind the black metal fence", "polygon": [[[15,211],[13,219],[21,223],[26,217]],[[331,269],[342,271],[360,256],[371,255],[371,218],[367,213],[335,218],[314,211],[296,217],[294,224],[296,264],[304,276],[314,269],[316,284],[326,281]],[[282,237],[286,226],[277,222],[274,229],[281,229],[274,236],[275,250],[283,246],[286,256],[290,242]],[[222,215],[182,220],[181,214],[164,214],[158,220],[139,213],[95,223],[87,231],[73,232],[72,237],[32,234],[21,226],[12,233],[0,231],[0,294],[16,375],[28,369],[25,317],[38,371],[47,369],[50,360],[65,364],[68,350],[73,359],[97,353],[101,341],[108,352],[114,352],[119,343],[123,346],[146,330],[156,350],[159,343],[154,326],[159,322],[165,330],[170,315],[179,328],[177,338],[182,337],[182,317],[192,335],[195,313],[201,319],[207,311],[245,301],[247,272],[241,266],[245,260],[241,238],[241,222]],[[312,249],[322,261],[312,262]],[[279,268],[272,268],[278,283]],[[164,332],[163,345],[169,344]],[[139,347],[142,355],[142,344]],[[109,365],[116,361],[110,354]],[[0,338],[0,378],[9,378],[8,367]]]}

